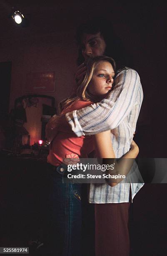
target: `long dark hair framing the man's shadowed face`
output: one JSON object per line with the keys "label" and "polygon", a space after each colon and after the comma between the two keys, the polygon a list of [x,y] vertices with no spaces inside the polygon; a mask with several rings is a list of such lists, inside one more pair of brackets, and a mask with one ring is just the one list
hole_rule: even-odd
{"label": "long dark hair framing the man's shadowed face", "polygon": [[115,59],[118,68],[128,66],[128,58],[125,53],[125,48],[122,45],[122,41],[115,33],[111,21],[102,17],[92,18],[78,26],[75,36],[78,45],[77,64],[80,65],[85,61],[81,49],[83,33],[96,34],[99,32],[106,43],[104,55]]}

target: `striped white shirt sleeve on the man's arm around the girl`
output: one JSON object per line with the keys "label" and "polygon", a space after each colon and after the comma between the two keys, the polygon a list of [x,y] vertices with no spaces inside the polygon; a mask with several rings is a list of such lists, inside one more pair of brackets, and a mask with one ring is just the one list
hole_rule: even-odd
{"label": "striped white shirt sleeve on the man's arm around the girl", "polygon": [[80,137],[116,128],[132,110],[139,86],[140,77],[135,70],[121,71],[115,78],[114,89],[105,99],[66,114],[72,131]]}

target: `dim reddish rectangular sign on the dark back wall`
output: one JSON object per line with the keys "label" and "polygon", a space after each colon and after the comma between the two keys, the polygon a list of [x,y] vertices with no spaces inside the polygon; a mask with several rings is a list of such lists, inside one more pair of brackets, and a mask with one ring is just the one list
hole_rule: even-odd
{"label": "dim reddish rectangular sign on the dark back wall", "polygon": [[29,93],[55,92],[55,71],[26,74],[25,90]]}

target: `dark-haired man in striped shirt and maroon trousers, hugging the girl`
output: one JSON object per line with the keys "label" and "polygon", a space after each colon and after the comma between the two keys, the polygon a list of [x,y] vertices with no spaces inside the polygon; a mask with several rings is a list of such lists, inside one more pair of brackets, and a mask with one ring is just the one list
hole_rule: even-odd
{"label": "dark-haired man in striped shirt and maroon trousers, hugging the girl", "polygon": [[[52,118],[47,125],[47,138],[52,128],[60,131],[72,129],[78,137],[111,130],[115,155],[120,158],[130,149],[142,104],[140,77],[135,70],[122,67],[125,56],[118,43],[119,40],[113,31],[112,33],[110,31],[108,21],[93,20],[82,24],[77,30],[76,38],[79,45],[78,64],[90,56],[107,55],[113,57],[121,69],[115,77],[114,89],[100,103],[67,113],[64,117]],[[84,64],[78,67],[76,83],[80,84],[85,76],[85,70]],[[125,184],[123,182],[115,187],[110,187],[108,184],[101,186],[91,184],[89,202],[96,204],[96,255],[129,255],[130,201],[142,186],[143,183]],[[106,212],[108,212],[107,215],[105,215]],[[101,218],[106,220],[102,225]],[[105,232],[107,230],[107,238],[103,237],[103,230]]]}

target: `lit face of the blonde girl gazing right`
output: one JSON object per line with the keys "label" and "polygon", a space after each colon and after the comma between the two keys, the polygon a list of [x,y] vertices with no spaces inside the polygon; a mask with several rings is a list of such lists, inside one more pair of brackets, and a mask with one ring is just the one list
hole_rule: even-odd
{"label": "lit face of the blonde girl gazing right", "polygon": [[108,61],[101,61],[90,80],[88,85],[88,92],[95,96],[102,96],[103,98],[110,92],[114,82],[115,72],[112,64]]}

